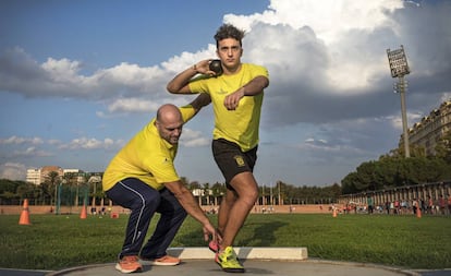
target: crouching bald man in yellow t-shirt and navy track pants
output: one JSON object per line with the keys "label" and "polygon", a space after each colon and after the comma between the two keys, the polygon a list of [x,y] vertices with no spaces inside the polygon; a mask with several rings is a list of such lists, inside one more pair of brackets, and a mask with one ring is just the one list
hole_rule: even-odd
{"label": "crouching bald man in yellow t-shirt and navy track pants", "polygon": [[[102,187],[107,196],[131,209],[120,261],[115,265],[118,271],[141,272],[139,257],[154,265],[179,264],[180,260],[169,256],[166,251],[186,213],[204,226],[206,241],[209,235],[214,239],[218,236],[181,182],[173,164],[183,124],[209,103],[208,95],[200,95],[182,108],[169,104],[161,106],[157,117],[114,156],[105,171]],[[157,228],[142,248],[156,212],[161,214]]]}

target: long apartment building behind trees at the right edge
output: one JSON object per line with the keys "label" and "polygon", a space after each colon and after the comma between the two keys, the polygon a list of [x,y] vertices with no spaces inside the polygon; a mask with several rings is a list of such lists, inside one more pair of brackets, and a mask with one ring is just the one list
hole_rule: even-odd
{"label": "long apartment building behind trees at the right edge", "polygon": [[[409,129],[409,144],[420,146],[425,148],[426,156],[432,156],[436,154],[437,142],[449,131],[451,131],[451,100],[442,103],[438,109],[434,109]],[[404,147],[402,134],[399,147]]]}

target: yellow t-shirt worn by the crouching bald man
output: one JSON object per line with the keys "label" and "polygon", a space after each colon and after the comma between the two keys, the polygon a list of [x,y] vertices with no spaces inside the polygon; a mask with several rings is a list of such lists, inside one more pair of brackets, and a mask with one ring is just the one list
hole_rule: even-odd
{"label": "yellow t-shirt worn by the crouching bald man", "polygon": [[[179,109],[185,123],[196,113],[191,105]],[[103,191],[125,178],[137,178],[156,190],[180,179],[173,164],[178,146],[161,139],[154,122],[155,118],[112,158],[103,173]]]}

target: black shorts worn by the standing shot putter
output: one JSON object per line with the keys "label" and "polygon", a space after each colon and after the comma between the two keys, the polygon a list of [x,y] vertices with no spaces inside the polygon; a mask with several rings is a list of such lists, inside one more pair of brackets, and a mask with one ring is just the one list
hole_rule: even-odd
{"label": "black shorts worn by the standing shot putter", "polygon": [[243,153],[240,146],[233,142],[224,139],[214,140],[211,149],[215,161],[226,178],[226,184],[230,189],[230,181],[234,176],[245,172],[254,171],[255,161],[257,160],[257,148]]}

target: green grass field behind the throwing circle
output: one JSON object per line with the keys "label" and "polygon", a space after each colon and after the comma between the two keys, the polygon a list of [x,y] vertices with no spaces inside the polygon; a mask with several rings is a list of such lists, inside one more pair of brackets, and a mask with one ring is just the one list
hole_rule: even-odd
{"label": "green grass field behind the throwing circle", "polygon": [[[19,215],[2,215],[0,267],[61,269],[114,262],[126,220],[126,215],[31,215],[32,225],[24,226]],[[451,217],[440,216],[252,214],[235,245],[305,247],[315,259],[432,269],[451,267],[450,229]],[[188,217],[171,247],[206,247],[199,224]]]}

